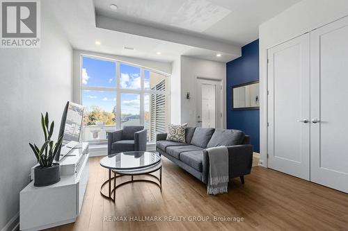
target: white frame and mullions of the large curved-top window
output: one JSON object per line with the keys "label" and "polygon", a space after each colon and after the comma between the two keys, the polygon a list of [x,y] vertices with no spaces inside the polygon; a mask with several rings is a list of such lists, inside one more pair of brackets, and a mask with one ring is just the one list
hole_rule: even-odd
{"label": "white frame and mullions of the large curved-top window", "polygon": [[[79,102],[81,103],[81,105],[84,105],[84,102],[82,100],[82,91],[84,90],[90,90],[90,91],[102,91],[102,92],[116,92],[116,130],[120,130],[121,129],[121,94],[122,93],[126,93],[126,94],[140,94],[140,125],[144,126],[145,123],[145,108],[144,108],[144,99],[145,99],[145,94],[161,94],[161,95],[165,95],[167,97],[167,99],[170,99],[170,83],[171,83],[171,76],[161,72],[161,71],[157,71],[155,69],[149,68],[149,67],[143,67],[141,65],[136,65],[130,62],[125,62],[122,60],[117,60],[117,59],[113,59],[113,58],[105,58],[102,56],[96,56],[96,55],[88,55],[85,53],[81,53],[79,55],[79,59],[80,59],[80,65],[79,65]],[[83,69],[83,59],[84,57],[86,58],[94,58],[97,60],[104,60],[104,61],[108,61],[108,62],[115,62],[116,64],[116,80],[115,80],[115,87],[93,87],[93,86],[85,86],[82,83],[82,69]],[[139,67],[140,68],[140,74],[141,74],[141,89],[127,89],[127,88],[122,88],[120,87],[120,65],[124,64],[124,65],[129,65],[129,66],[133,66],[133,67]],[[151,72],[155,72],[157,74],[161,74],[162,76],[165,76],[166,78],[166,89],[164,91],[158,91],[158,90],[152,90],[152,89],[145,89],[144,86],[144,71],[148,70]],[[169,107],[170,108],[170,107]],[[169,109],[170,110],[170,109]],[[171,112],[168,112],[168,114],[170,115]],[[152,142],[149,142],[152,143]]]}

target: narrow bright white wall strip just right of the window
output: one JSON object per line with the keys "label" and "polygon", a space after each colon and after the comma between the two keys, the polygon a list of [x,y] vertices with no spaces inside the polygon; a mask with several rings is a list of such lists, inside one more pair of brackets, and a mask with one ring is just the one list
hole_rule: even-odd
{"label": "narrow bright white wall strip just right of the window", "polygon": [[172,62],[171,75],[171,123],[181,123],[181,60],[180,57]]}

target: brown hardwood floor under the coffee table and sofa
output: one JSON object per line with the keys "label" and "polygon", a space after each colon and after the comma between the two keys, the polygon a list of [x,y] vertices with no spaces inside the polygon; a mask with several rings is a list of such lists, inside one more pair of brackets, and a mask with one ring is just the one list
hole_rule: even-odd
{"label": "brown hardwood floor under the coffee table and sofa", "polygon": [[[348,230],[348,194],[254,166],[245,185],[235,178],[228,194],[209,196],[203,183],[162,158],[162,193],[156,185],[135,182],[117,189],[112,203],[100,196],[107,171],[100,157],[91,157],[80,216],[49,230]],[[119,216],[128,221],[115,221]],[[136,222],[129,221],[131,216],[182,216],[186,221]],[[193,216],[244,221],[188,221]]]}

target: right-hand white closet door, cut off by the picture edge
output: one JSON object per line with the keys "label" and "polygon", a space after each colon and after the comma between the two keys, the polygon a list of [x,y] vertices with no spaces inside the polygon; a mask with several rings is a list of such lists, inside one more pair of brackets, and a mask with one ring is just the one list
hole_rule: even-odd
{"label": "right-hand white closet door, cut off by the picture edge", "polygon": [[348,192],[348,18],[310,40],[310,180]]}

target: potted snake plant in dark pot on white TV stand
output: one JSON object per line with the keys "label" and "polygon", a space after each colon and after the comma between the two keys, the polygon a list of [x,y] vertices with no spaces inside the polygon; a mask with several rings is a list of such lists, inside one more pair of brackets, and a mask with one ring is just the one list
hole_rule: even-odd
{"label": "potted snake plant in dark pot on white TV stand", "polygon": [[53,185],[61,180],[60,166],[58,163],[54,163],[54,157],[61,148],[63,137],[59,137],[56,143],[51,140],[54,130],[54,121],[49,125],[47,112],[45,117],[41,114],[41,126],[45,135],[45,143],[42,144],[41,148],[35,144],[29,143],[39,163],[34,169],[34,186],[36,187]]}

